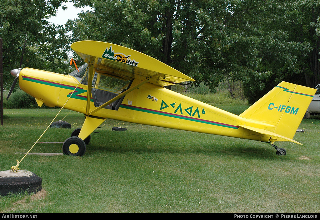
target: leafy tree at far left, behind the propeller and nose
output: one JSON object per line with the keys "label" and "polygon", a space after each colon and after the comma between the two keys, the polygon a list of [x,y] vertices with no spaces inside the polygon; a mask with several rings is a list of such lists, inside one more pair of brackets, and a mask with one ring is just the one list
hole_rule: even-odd
{"label": "leafy tree at far left, behind the propeller and nose", "polygon": [[24,39],[27,38],[22,67],[63,73],[70,40],[66,30],[46,19],[56,14],[66,0],[1,0],[0,37],[3,38],[4,85],[10,87],[9,72],[20,66]]}

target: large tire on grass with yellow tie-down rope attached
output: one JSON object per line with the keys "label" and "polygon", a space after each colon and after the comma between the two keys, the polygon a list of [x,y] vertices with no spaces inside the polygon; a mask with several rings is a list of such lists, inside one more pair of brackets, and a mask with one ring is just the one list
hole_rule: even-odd
{"label": "large tire on grass with yellow tie-down rope attached", "polygon": [[42,179],[30,171],[0,172],[0,196],[17,193],[37,193],[42,189]]}

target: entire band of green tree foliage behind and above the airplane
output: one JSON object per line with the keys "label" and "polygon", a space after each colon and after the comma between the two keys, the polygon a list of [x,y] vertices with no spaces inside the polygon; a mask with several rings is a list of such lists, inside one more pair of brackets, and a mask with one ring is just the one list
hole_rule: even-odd
{"label": "entire band of green tree foliage behind and above the airplane", "polygon": [[[19,67],[28,34],[23,67],[58,73],[70,72],[71,42],[99,40],[159,59],[211,92],[226,80],[242,82],[250,103],[283,80],[313,88],[320,83],[317,0],[73,0],[92,10],[66,28],[48,23],[65,1],[3,0],[4,73]],[[12,77],[4,78],[10,87]]]}

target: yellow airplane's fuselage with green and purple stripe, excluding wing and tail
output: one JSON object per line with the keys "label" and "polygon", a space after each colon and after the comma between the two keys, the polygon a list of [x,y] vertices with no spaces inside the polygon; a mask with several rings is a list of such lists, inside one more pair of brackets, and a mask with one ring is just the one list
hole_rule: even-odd
{"label": "yellow airplane's fuselage with green and purple stripe, excluding wing and tail", "polygon": [[[131,85],[139,82],[135,79]],[[64,106],[77,87],[64,108],[86,114],[88,86],[79,84],[73,76],[24,68],[19,75],[19,84],[22,90],[36,98],[39,106],[51,107]],[[96,102],[93,95],[90,98],[90,110],[94,110]],[[152,83],[145,83],[126,94],[117,110],[102,108],[92,116],[262,142],[268,142],[269,138],[252,135],[250,130],[239,125],[269,130],[273,126],[242,118]]]}

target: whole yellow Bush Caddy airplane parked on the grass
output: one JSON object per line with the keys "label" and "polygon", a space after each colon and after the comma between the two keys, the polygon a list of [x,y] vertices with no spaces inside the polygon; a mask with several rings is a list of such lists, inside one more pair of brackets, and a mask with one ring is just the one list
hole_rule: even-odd
{"label": "whole yellow Bush Caddy airplane parked on the grass", "polygon": [[285,155],[274,142],[300,144],[292,138],[316,92],[281,82],[235,115],[164,88],[194,80],[143,53],[98,41],[75,42],[71,48],[85,64],[69,75],[31,68],[11,71],[39,106],[65,105],[85,114],[82,128],[63,144],[68,155],[83,156],[90,134],[108,118],[266,142],[277,155]]}

